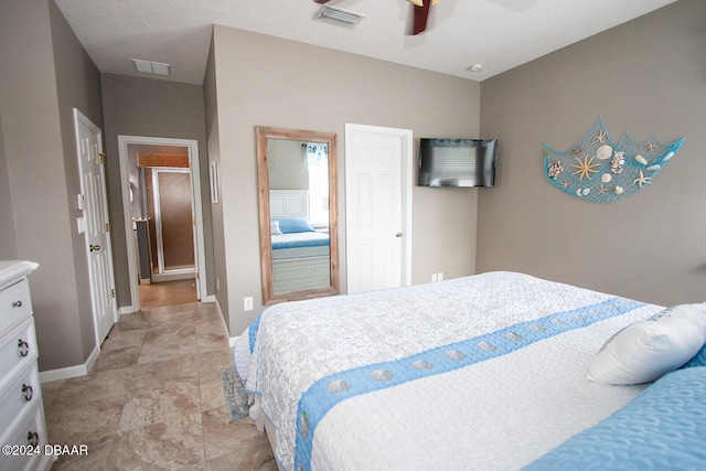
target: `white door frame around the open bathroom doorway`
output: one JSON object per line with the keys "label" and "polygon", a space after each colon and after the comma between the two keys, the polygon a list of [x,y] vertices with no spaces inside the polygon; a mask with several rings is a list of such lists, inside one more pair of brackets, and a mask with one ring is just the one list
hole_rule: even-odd
{"label": "white door frame around the open bathroom doorway", "polygon": [[130,279],[130,306],[120,308],[121,313],[136,312],[140,309],[140,293],[138,289],[137,258],[132,243],[132,205],[130,204],[130,172],[128,168],[128,146],[176,146],[189,150],[191,168],[191,190],[196,218],[194,237],[194,256],[196,258],[196,291],[201,301],[206,301],[206,256],[204,248],[203,208],[201,203],[201,171],[199,165],[199,141],[195,139],[158,138],[148,136],[118,135],[118,154],[120,158],[120,186],[122,193],[122,213],[125,220],[125,235],[128,251],[128,271]]}

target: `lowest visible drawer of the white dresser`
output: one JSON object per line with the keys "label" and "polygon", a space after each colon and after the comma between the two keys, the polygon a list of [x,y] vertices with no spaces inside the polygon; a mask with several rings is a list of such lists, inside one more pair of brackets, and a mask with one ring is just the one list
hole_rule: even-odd
{"label": "lowest visible drawer of the white dresser", "polygon": [[[12,452],[10,456],[0,454],[0,470],[33,471],[46,468],[50,457],[44,454],[44,446],[47,442],[46,429],[44,428],[44,411],[41,406],[40,403],[36,403],[17,428],[3,433],[2,438],[0,438],[3,446],[9,445],[11,447],[10,450]],[[29,446],[35,450],[26,450]]]}

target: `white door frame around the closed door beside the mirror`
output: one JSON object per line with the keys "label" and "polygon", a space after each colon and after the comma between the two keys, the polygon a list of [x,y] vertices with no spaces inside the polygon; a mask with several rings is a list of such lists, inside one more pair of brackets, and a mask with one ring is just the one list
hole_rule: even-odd
{"label": "white door frame around the closed door beside the mirror", "polygon": [[[370,125],[356,125],[346,122],[345,124],[345,188],[346,192],[352,185],[352,182],[349,179],[352,178],[352,172],[350,171],[350,167],[352,164],[351,157],[354,152],[351,149],[353,140],[351,139],[351,135],[353,132],[365,132],[370,135],[379,135],[379,136],[397,136],[403,140],[403,156],[402,156],[402,217],[403,217],[403,233],[405,236],[403,237],[403,249],[402,249],[402,282],[403,286],[411,285],[411,192],[414,189],[414,158],[413,158],[413,131],[411,129],[400,129],[400,128],[388,128],[381,126],[370,126]],[[353,211],[349,205],[352,204],[352,200],[350,197],[345,197],[345,214],[346,220],[347,215],[352,214]],[[350,224],[346,222],[346,232],[349,231]],[[346,237],[347,240],[347,237]],[[351,264],[349,263],[349,254],[350,250],[346,247],[345,256],[346,256],[346,271],[350,270]],[[346,272],[346,282],[350,279]],[[346,287],[347,291],[347,287]]]}

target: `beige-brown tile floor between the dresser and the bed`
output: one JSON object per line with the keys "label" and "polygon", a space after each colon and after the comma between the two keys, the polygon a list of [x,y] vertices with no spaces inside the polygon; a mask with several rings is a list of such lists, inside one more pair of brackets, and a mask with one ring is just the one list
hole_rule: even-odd
{"label": "beige-brown tile floor between the dresser and the bed", "polygon": [[276,470],[267,436],[229,422],[231,352],[213,303],[122,315],[88,375],[42,385],[49,442],[88,446],[52,470]]}

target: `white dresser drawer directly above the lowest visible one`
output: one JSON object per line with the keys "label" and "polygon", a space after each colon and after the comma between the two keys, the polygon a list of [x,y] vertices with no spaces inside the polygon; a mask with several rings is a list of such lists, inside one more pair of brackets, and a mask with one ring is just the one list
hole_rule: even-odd
{"label": "white dresser drawer directly above the lowest visible one", "polygon": [[9,428],[26,409],[42,403],[42,389],[36,363],[13,375],[0,392],[0,424]]}

